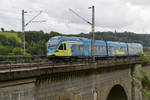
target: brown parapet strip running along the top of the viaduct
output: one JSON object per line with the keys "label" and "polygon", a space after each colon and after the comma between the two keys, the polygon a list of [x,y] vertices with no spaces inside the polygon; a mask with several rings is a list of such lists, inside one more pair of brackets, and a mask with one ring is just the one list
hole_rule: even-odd
{"label": "brown parapet strip running along the top of the viaduct", "polygon": [[[144,63],[140,57],[119,57],[98,59],[95,63],[88,60],[78,62],[41,62],[41,63],[19,63],[0,65],[0,81],[8,81],[29,77],[36,77],[41,74],[70,72],[86,69],[98,69],[119,65],[130,65]],[[7,77],[6,77],[7,76]]]}

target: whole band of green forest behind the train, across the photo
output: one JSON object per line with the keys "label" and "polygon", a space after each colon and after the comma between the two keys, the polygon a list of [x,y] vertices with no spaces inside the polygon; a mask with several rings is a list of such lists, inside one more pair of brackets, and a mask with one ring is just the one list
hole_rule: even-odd
{"label": "whole band of green forest behind the train, across the photo", "polygon": [[[46,42],[53,36],[75,36],[91,38],[91,33],[63,34],[55,31],[26,31],[26,55],[46,55]],[[22,33],[11,31],[0,32],[0,55],[23,55]],[[141,43],[145,51],[150,51],[150,34],[133,32],[95,32],[96,40]]]}

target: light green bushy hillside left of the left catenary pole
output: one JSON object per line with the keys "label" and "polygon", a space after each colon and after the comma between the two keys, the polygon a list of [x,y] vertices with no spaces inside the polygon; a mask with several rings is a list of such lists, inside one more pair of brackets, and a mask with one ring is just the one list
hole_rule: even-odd
{"label": "light green bushy hillside left of the left catenary pole", "polygon": [[21,44],[17,33],[0,32],[0,55],[20,55]]}

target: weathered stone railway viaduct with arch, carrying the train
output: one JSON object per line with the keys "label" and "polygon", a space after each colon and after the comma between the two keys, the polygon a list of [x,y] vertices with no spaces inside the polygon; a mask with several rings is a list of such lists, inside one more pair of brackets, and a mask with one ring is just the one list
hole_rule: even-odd
{"label": "weathered stone railway viaduct with arch, carrying the train", "polygon": [[131,75],[139,57],[0,65],[0,100],[145,100]]}

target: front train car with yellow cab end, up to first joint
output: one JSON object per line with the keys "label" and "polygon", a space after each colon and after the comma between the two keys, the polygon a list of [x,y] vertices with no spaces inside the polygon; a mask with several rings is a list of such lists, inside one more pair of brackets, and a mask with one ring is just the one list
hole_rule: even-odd
{"label": "front train car with yellow cab end, up to first joint", "polygon": [[[106,56],[106,42],[96,40],[94,43],[95,56]],[[91,56],[91,40],[80,37],[53,37],[47,43],[47,56]]]}

